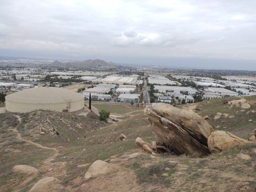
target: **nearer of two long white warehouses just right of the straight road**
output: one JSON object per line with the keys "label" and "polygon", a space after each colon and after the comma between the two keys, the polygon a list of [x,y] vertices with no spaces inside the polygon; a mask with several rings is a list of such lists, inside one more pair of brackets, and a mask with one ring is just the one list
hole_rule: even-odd
{"label": "nearer of two long white warehouses just right of the straight road", "polygon": [[155,92],[163,92],[166,96],[174,96],[176,93],[183,93],[183,94],[198,94],[198,91],[192,87],[180,87],[180,86],[162,86],[162,85],[155,85],[154,86]]}

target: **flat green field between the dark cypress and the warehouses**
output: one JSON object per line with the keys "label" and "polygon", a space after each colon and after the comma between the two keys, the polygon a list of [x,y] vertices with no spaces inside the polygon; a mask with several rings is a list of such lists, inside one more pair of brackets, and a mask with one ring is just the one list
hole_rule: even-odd
{"label": "flat green field between the dark cypress and the warehouses", "polygon": [[[118,105],[118,104],[92,104],[93,107],[97,108],[98,110],[106,110],[109,111],[110,113],[114,114],[125,114],[125,113],[130,113],[132,111],[138,111],[141,110],[141,107],[135,107],[135,104],[132,106],[130,105]],[[142,109],[144,109],[143,107]]]}

